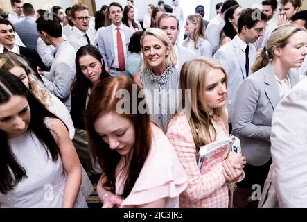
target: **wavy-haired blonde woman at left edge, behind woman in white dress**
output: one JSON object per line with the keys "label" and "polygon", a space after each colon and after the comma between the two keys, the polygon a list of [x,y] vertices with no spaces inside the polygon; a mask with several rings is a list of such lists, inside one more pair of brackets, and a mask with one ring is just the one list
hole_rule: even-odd
{"label": "wavy-haired blonde woman at left edge, behind woman in white dress", "polygon": [[0,54],[0,69],[10,71],[10,73],[20,78],[40,103],[64,122],[69,130],[69,137],[73,139],[75,128],[66,106],[44,87],[23,58],[15,53],[2,53]]}

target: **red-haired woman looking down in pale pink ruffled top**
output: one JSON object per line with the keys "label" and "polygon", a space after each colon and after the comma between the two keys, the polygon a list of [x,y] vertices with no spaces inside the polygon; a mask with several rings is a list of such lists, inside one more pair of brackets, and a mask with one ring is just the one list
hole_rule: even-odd
{"label": "red-haired woman looking down in pale pink ruffled top", "polygon": [[98,196],[103,207],[179,207],[186,173],[140,95],[133,80],[116,76],[89,96],[89,146],[103,171]]}

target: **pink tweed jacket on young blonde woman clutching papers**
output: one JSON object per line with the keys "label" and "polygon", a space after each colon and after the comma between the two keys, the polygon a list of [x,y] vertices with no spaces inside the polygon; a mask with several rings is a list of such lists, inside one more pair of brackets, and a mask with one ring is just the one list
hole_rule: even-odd
{"label": "pink tweed jacket on young blonde woman clutching papers", "polygon": [[[225,125],[220,120],[216,123],[217,139],[225,137],[227,135]],[[166,135],[188,175],[188,187],[180,194],[179,207],[228,207],[229,189],[222,173],[222,162],[211,171],[203,175],[200,173],[191,128],[185,114],[179,114],[170,121]]]}

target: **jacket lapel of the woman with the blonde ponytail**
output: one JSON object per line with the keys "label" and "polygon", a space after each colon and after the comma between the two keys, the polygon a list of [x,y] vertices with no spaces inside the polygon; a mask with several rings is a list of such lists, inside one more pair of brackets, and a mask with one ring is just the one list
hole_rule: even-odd
{"label": "jacket lapel of the woman with the blonde ponytail", "polygon": [[277,104],[281,100],[281,97],[279,95],[279,90],[277,87],[276,80],[274,78],[273,68],[271,63],[269,63],[263,69],[263,76],[264,76],[264,82],[267,85],[267,87],[265,88],[265,94],[267,95],[267,98],[270,100],[270,103],[272,104],[273,109],[275,110]]}

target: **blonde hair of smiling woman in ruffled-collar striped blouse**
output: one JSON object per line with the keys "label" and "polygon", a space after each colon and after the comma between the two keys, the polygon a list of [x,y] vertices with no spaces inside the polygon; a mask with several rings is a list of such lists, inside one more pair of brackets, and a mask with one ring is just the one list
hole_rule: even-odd
{"label": "blonde hair of smiling woman in ruffled-collar striped blouse", "polygon": [[[177,55],[176,52],[173,48],[172,43],[170,42],[170,40],[168,39],[168,36],[166,35],[166,33],[164,33],[164,31],[161,31],[161,29],[159,28],[147,28],[146,31],[143,33],[142,37],[141,37],[141,48],[143,50],[143,40],[144,37],[146,37],[146,35],[152,35],[157,37],[157,39],[161,40],[162,43],[164,44],[164,46],[170,46],[170,53],[168,54],[168,56],[166,56],[166,67],[170,67],[173,66],[175,67],[175,65],[177,64]],[[143,69],[148,69],[150,68],[150,65],[148,64],[147,60],[144,60],[143,63]]]}

